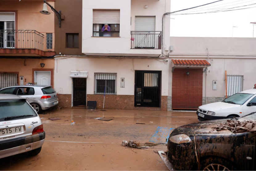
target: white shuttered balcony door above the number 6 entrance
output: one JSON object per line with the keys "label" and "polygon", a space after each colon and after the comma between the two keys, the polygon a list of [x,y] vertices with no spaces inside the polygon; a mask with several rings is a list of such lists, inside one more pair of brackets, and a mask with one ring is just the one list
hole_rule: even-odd
{"label": "white shuttered balcony door above the number 6 entrance", "polygon": [[136,49],[154,49],[155,16],[135,16],[134,43]]}

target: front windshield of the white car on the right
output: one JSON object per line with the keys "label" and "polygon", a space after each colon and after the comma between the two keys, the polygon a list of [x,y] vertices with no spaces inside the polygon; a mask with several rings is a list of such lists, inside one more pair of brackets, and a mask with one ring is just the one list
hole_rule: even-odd
{"label": "front windshield of the white car on the right", "polygon": [[222,102],[243,105],[253,95],[254,94],[236,93],[236,94],[226,98]]}

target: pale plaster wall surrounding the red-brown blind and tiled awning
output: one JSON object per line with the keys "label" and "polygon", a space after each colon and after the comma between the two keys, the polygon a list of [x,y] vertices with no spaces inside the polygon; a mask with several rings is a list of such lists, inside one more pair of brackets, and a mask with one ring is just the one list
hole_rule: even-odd
{"label": "pale plaster wall surrounding the red-brown blind and tiled awning", "polygon": [[[171,37],[170,42],[174,50],[169,56],[169,96],[172,95],[171,59],[205,59],[211,64],[207,76],[203,74],[204,97],[225,96],[225,70],[228,75],[244,76],[243,90],[253,88],[256,83],[255,38]],[[217,90],[213,90],[213,80],[218,81]]]}

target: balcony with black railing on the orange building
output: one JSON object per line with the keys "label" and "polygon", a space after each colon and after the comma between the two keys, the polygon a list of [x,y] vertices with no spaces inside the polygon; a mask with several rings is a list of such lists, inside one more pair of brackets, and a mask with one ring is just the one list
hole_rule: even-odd
{"label": "balcony with black railing on the orange building", "polygon": [[0,56],[52,56],[44,52],[44,35],[36,30],[0,30]]}

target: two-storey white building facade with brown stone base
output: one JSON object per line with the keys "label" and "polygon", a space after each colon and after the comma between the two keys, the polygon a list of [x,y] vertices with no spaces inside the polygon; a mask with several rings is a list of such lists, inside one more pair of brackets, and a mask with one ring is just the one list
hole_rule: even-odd
{"label": "two-storey white building facade with brown stone base", "polygon": [[60,105],[97,101],[97,109],[104,103],[105,109],[167,110],[170,17],[163,14],[170,5],[170,0],[83,0],[85,55],[55,58]]}

